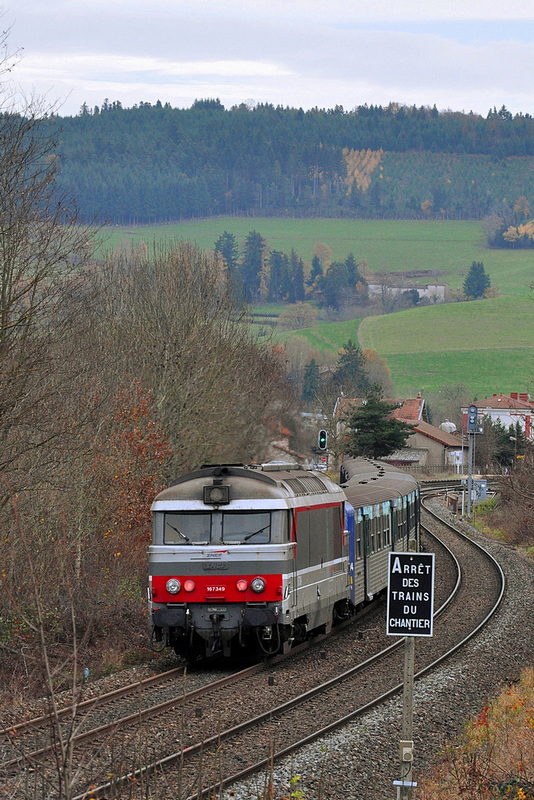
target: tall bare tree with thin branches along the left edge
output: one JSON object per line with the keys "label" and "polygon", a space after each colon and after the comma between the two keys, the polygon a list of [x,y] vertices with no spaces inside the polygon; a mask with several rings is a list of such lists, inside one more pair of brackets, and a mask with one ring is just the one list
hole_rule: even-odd
{"label": "tall bare tree with thin branches along the left edge", "polygon": [[[0,469],[61,434],[67,333],[92,238],[56,191],[53,123],[39,107],[0,114]],[[48,411],[52,413],[48,415]],[[26,464],[24,470],[27,474]],[[15,482],[17,485],[17,482]]]}

